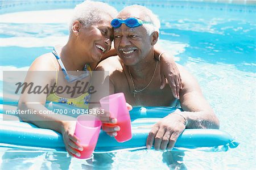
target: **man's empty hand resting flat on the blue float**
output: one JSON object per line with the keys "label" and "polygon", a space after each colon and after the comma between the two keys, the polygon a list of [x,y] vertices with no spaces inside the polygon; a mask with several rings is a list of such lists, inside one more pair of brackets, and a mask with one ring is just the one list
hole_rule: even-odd
{"label": "man's empty hand resting flat on the blue float", "polygon": [[162,118],[148,134],[147,149],[150,149],[154,142],[155,150],[172,150],[177,138],[184,131],[185,124],[185,118],[176,113]]}

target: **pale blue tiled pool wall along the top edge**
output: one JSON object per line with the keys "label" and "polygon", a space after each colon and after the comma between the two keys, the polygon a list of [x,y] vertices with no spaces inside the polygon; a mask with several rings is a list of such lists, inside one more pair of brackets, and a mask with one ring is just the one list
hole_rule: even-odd
{"label": "pale blue tiled pool wall along the top edge", "polygon": [[[82,1],[0,1],[0,14],[32,10],[53,10],[59,8],[73,8]],[[175,8],[180,10],[207,10],[256,13],[256,1],[101,1],[121,10],[124,6],[133,4],[146,7]]]}

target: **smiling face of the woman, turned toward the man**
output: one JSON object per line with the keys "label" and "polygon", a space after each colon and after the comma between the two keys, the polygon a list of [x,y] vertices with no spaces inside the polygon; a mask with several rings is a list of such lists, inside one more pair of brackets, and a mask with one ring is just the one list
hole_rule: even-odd
{"label": "smiling face of the woman, turned toward the man", "polygon": [[109,15],[104,15],[100,22],[89,28],[81,28],[81,48],[86,49],[86,56],[90,57],[92,62],[100,61],[102,55],[111,48],[113,29],[110,22],[112,19]]}

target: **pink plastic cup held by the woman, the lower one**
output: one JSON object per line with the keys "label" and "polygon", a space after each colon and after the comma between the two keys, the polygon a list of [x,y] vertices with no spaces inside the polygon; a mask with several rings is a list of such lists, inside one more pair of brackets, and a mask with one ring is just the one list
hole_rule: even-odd
{"label": "pink plastic cup held by the woman, the lower one", "polygon": [[100,130],[101,121],[99,118],[89,114],[82,114],[77,117],[75,135],[80,139],[80,144],[84,150],[79,151],[81,156],[75,155],[76,158],[88,159],[92,157]]}

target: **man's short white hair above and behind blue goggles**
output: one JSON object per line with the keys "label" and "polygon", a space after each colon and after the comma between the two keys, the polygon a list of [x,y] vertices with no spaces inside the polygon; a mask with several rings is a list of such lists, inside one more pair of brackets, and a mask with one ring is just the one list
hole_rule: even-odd
{"label": "man's short white hair above and behind blue goggles", "polygon": [[[134,8],[138,11],[141,12],[140,14],[140,19],[142,19],[145,22],[150,22],[150,23],[145,23],[143,24],[143,27],[146,29],[147,34],[151,35],[152,32],[157,31],[159,33],[159,28],[160,28],[160,20],[158,19],[158,16],[155,15],[150,9],[141,6],[141,5],[131,5],[131,6],[127,6],[125,8],[123,8],[122,11],[125,10],[129,10],[130,8],[132,8],[134,10]],[[122,12],[120,11],[120,12]]]}

